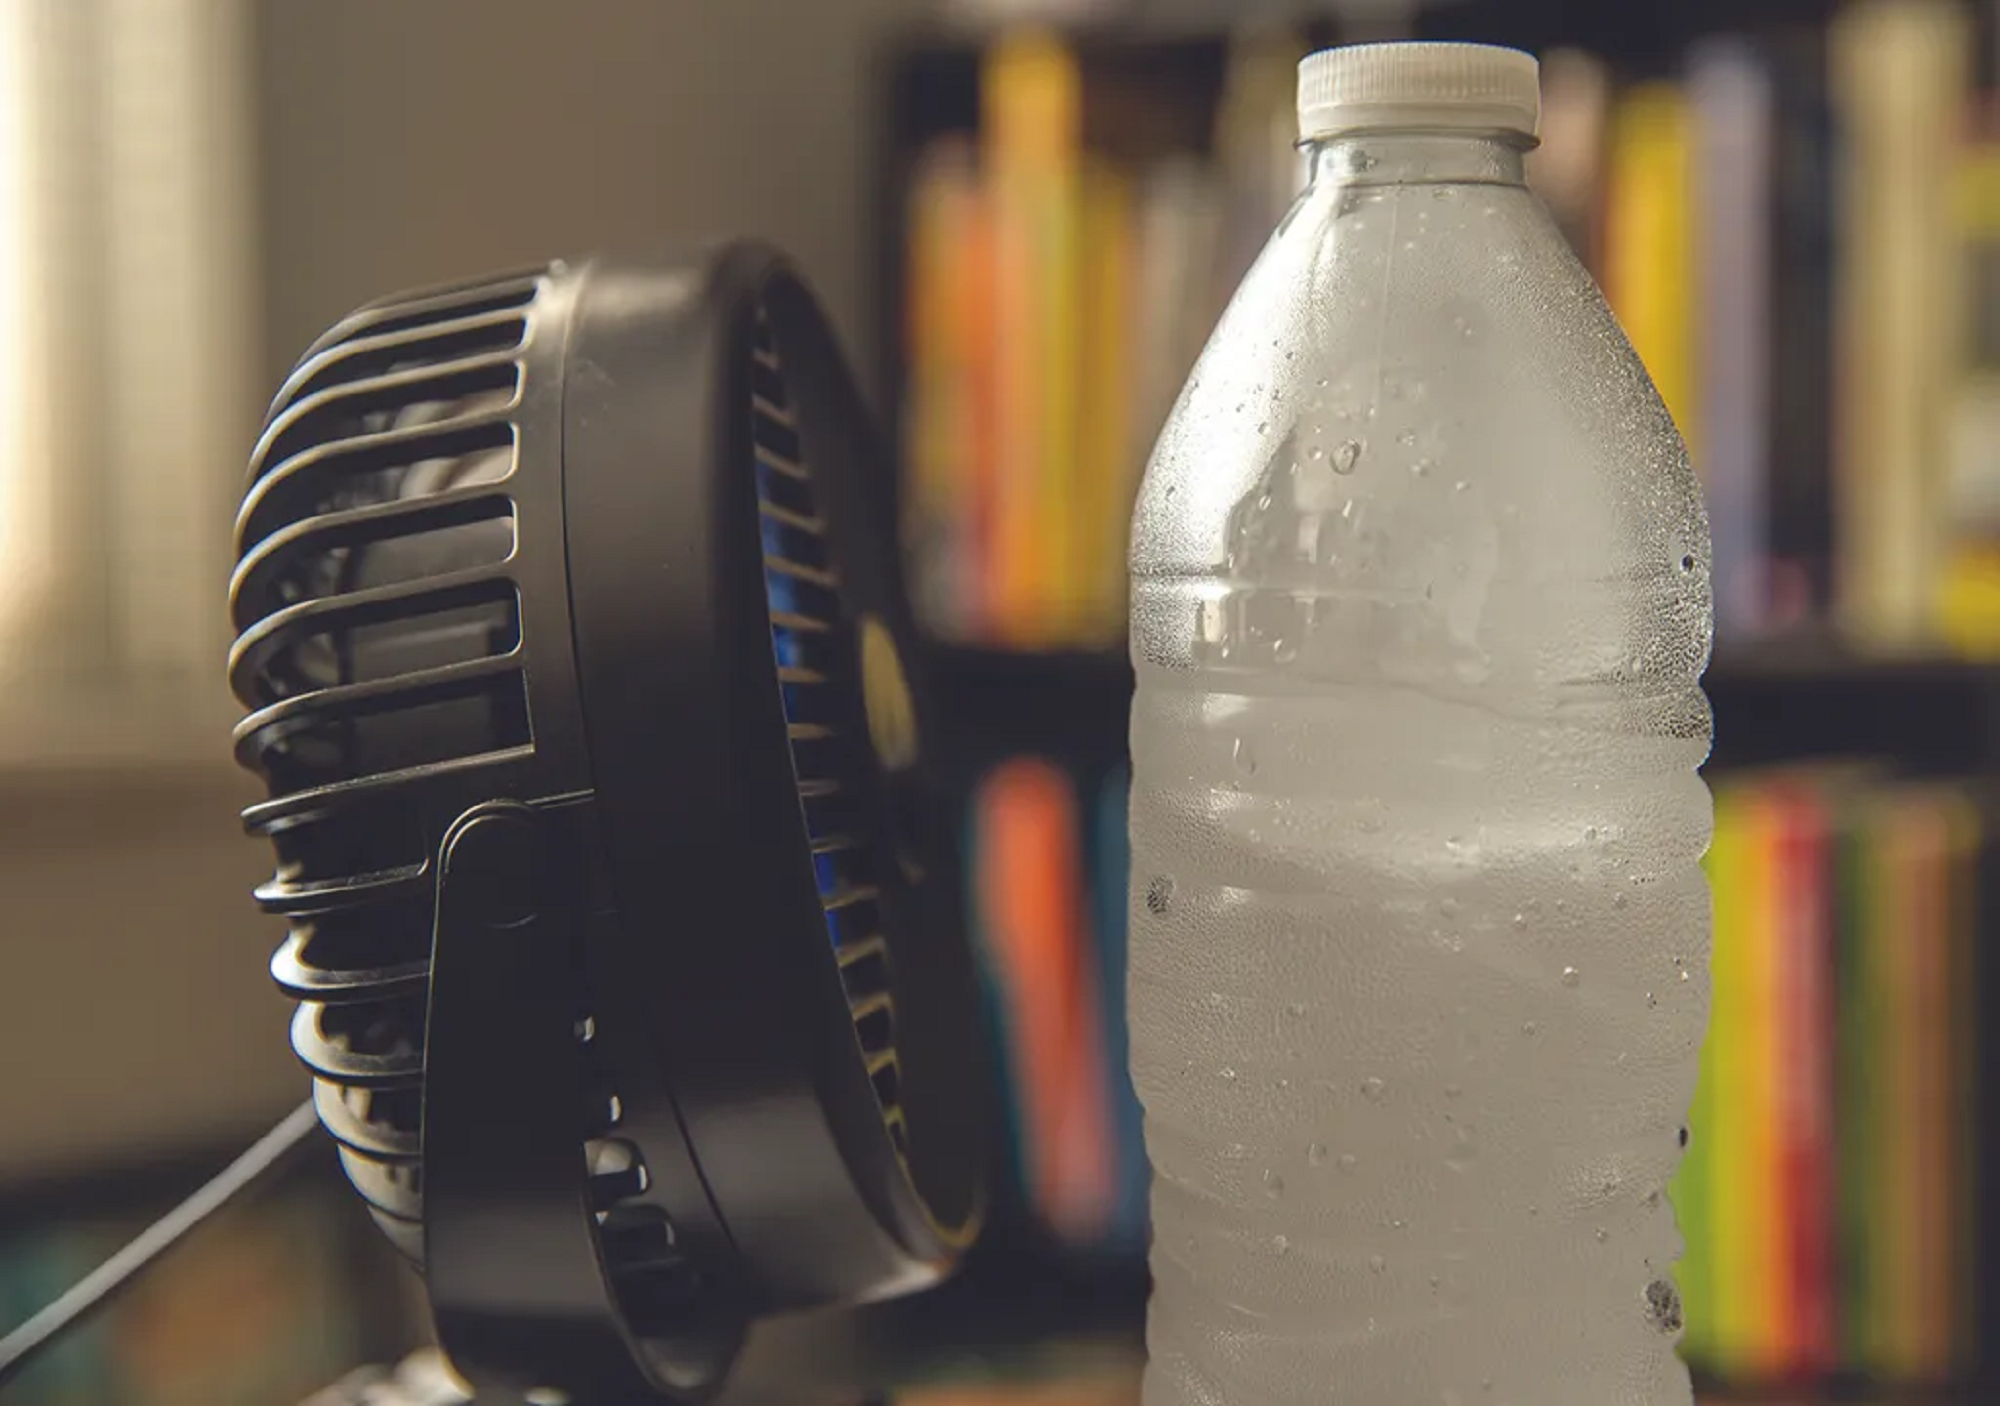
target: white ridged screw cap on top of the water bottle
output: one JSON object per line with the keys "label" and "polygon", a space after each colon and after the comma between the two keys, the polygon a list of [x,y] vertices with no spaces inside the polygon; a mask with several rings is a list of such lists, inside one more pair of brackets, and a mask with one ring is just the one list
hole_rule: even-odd
{"label": "white ridged screw cap on top of the water bottle", "polygon": [[1318,142],[1370,126],[1478,128],[1536,136],[1534,54],[1494,44],[1350,44],[1298,64],[1298,136]]}

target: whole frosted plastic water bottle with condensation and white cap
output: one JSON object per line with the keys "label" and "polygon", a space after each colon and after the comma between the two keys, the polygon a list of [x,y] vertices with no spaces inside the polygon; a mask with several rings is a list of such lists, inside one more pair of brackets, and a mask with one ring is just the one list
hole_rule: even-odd
{"label": "whole frosted plastic water bottle with condensation and white cap", "polygon": [[1314,54],[1132,538],[1148,1406],[1690,1400],[1708,524],[1530,56]]}

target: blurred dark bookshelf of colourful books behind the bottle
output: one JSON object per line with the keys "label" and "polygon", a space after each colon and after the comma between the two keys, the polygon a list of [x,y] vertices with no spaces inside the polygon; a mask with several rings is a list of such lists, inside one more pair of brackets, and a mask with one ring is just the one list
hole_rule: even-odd
{"label": "blurred dark bookshelf of colourful books behind the bottle", "polygon": [[[1124,524],[1296,192],[1292,64],[1342,38],[1276,10],[884,58],[878,384],[1012,1110],[988,1246],[878,1314],[904,1354],[1138,1342]],[[1544,60],[1530,180],[1710,498],[1716,1016],[1668,1190],[1720,1400],[2000,1382],[1996,16],[1458,0],[1412,34]]]}

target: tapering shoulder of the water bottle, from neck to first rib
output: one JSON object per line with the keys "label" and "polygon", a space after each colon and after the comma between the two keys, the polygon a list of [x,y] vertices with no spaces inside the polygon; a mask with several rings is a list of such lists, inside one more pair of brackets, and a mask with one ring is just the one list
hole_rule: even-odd
{"label": "tapering shoulder of the water bottle, from neck to first rib", "polygon": [[1708,560],[1686,448],[1604,298],[1526,190],[1478,184],[1302,196],[1162,430],[1132,534],[1136,580],[1236,602],[1204,606],[1220,624],[1176,606],[1154,622],[1176,640],[1232,642],[1262,602],[1296,616],[1286,650],[1462,678],[1654,654],[1692,678]]}

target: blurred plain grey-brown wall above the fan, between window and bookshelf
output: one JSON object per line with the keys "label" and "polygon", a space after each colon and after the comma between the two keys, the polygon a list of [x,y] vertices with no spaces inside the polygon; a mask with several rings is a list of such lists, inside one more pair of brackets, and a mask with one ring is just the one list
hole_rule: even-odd
{"label": "blurred plain grey-brown wall above the fan, between window and bookshelf", "polygon": [[876,46],[926,0],[266,0],[268,368],[364,298],[756,234],[856,342]]}

